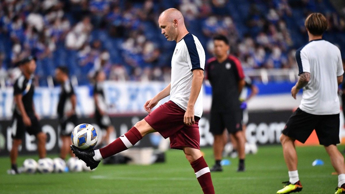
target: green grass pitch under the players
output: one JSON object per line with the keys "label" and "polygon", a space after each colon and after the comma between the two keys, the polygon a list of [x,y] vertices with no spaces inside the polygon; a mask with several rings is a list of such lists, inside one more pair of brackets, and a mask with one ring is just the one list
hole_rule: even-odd
{"label": "green grass pitch under the players", "polygon": [[[343,149],[344,146],[338,148]],[[212,149],[201,150],[211,167],[214,164]],[[331,175],[334,169],[324,148],[297,147],[297,154],[302,193],[334,193],[338,178]],[[21,156],[18,164],[30,157],[38,159],[37,156]],[[325,164],[312,166],[316,158]],[[9,158],[0,157],[0,193],[202,193],[182,151],[170,149],[166,159],[166,163],[150,166],[100,165],[94,172],[7,175]],[[231,165],[224,166],[223,172],[211,174],[216,193],[276,193],[283,186],[281,182],[288,181],[279,145],[261,146],[256,155],[248,155],[246,172],[243,173],[236,172],[237,159],[230,161]]]}

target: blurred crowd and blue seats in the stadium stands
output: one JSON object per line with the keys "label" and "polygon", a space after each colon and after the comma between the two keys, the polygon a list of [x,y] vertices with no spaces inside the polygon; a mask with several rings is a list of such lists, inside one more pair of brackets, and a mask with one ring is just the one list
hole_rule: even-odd
{"label": "blurred crowd and blue seats in the stadium stands", "polygon": [[345,9],[328,0],[3,0],[0,3],[0,79],[11,85],[16,63],[37,57],[37,84],[58,66],[79,84],[103,69],[110,80],[170,80],[175,42],[158,27],[161,11],[178,8],[187,29],[212,57],[212,37],[229,38],[244,69],[297,68],[295,51],[307,43],[304,20],[325,14],[325,39],[345,52]]}

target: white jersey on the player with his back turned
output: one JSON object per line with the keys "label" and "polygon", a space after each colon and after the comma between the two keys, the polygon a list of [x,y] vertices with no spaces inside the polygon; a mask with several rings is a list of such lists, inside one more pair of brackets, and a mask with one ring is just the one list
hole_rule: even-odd
{"label": "white jersey on the player with his back turned", "polygon": [[323,39],[312,40],[296,51],[299,75],[310,73],[303,88],[299,108],[314,115],[333,115],[340,112],[337,77],[344,73],[338,47]]}

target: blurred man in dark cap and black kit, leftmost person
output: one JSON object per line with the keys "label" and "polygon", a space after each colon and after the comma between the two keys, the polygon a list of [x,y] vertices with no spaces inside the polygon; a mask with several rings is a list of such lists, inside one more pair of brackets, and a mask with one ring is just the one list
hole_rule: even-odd
{"label": "blurred man in dark cap and black kit, leftmost person", "polygon": [[17,168],[18,148],[22,143],[25,132],[35,135],[37,138],[37,149],[40,158],[46,157],[47,136],[42,132],[33,105],[33,73],[36,69],[36,62],[32,56],[24,58],[19,62],[22,75],[16,80],[13,86],[14,110],[12,117],[12,149],[10,152],[11,170],[10,174],[20,173]]}

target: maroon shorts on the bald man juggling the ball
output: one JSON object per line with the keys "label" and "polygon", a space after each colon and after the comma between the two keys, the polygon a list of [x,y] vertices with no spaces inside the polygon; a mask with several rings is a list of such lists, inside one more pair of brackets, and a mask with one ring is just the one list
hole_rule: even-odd
{"label": "maroon shorts on the bald man juggling the ball", "polygon": [[183,122],[185,110],[169,100],[160,105],[144,119],[164,138],[170,138],[170,148],[183,149],[191,147],[200,149],[199,117],[195,116],[195,124],[188,126]]}

